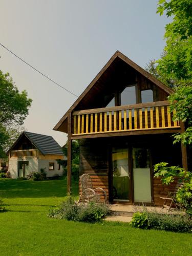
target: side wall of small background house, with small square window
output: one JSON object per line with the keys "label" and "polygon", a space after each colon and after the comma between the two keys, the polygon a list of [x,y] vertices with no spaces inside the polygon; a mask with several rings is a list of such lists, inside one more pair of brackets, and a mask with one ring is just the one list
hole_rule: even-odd
{"label": "side wall of small background house, with small square window", "polygon": [[[60,170],[57,169],[57,161],[56,160],[45,160],[45,159],[39,159],[38,160],[38,172],[40,172],[41,168],[45,168],[45,171],[47,173],[47,177],[53,177],[54,175],[58,174],[59,176],[62,175],[63,169],[60,165]],[[49,163],[55,163],[54,164],[54,170],[49,170]]]}

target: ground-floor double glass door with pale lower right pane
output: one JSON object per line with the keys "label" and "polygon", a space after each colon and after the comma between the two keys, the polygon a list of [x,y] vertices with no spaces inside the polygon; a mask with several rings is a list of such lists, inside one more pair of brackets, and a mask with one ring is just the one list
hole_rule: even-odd
{"label": "ground-floor double glass door with pale lower right pane", "polygon": [[151,203],[150,150],[144,147],[113,147],[113,201]]}

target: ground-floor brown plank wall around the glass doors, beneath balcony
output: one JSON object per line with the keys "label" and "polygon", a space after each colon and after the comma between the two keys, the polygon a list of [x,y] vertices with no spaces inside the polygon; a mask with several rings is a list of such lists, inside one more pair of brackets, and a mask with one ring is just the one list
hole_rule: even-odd
{"label": "ground-floor brown plank wall around the glass doors, beneath balcony", "polygon": [[[166,143],[166,146],[164,146]],[[151,151],[152,169],[154,164],[161,161],[170,165],[181,165],[181,147],[173,145],[170,135],[146,135],[146,136],[126,136],[122,138],[97,138],[80,140],[80,166],[79,175],[87,173],[91,176],[93,187],[102,187],[109,199],[110,176],[112,166],[110,164],[110,152],[112,147],[147,147]],[[160,178],[153,178],[152,175],[152,198],[157,206],[163,204],[159,198],[167,196],[168,191],[174,191],[175,184],[163,185]],[[79,193],[81,186],[79,184]]]}

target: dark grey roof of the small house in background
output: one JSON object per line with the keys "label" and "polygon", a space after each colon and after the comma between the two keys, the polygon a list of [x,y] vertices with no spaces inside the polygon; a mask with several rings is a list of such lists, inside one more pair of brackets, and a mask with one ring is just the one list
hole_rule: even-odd
{"label": "dark grey roof of the small house in background", "polygon": [[18,139],[15,141],[15,143],[12,145],[12,147],[9,149],[7,154],[12,150],[12,148],[17,144],[17,142],[22,138],[23,136],[26,136],[31,143],[43,154],[43,155],[63,155],[63,152],[61,150],[61,147],[59,144],[53,139],[53,137],[48,135],[42,135],[37,133],[30,133],[30,132],[23,132]]}

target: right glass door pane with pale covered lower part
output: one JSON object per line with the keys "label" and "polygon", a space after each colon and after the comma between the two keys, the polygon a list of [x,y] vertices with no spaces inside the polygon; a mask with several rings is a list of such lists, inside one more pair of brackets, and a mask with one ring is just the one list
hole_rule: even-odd
{"label": "right glass door pane with pale covered lower part", "polygon": [[147,148],[133,148],[134,201],[151,203],[150,154]]}

